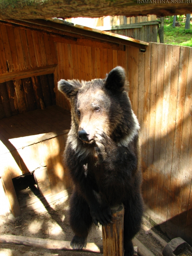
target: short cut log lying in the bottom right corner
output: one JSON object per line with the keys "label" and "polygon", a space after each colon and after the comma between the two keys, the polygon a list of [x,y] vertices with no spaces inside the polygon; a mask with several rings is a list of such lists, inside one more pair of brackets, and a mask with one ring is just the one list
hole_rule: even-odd
{"label": "short cut log lying in the bottom right corner", "polygon": [[163,249],[163,256],[192,256],[192,247],[182,238],[172,239]]}

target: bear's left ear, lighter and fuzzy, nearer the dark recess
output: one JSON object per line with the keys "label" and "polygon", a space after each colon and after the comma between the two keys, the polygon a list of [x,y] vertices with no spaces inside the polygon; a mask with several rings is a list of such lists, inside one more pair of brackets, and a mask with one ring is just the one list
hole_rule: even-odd
{"label": "bear's left ear, lighter and fuzzy, nearer the dark recess", "polygon": [[58,82],[58,89],[61,93],[65,94],[67,98],[75,97],[78,93],[81,83],[79,80],[64,80]]}

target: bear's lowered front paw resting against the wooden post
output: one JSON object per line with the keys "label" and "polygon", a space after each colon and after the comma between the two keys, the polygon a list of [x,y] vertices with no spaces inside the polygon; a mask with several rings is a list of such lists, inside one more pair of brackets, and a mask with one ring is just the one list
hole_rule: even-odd
{"label": "bear's lowered front paw resting against the wooden post", "polygon": [[93,219],[93,222],[98,226],[98,222],[102,225],[108,225],[111,222],[112,212],[110,207],[98,207],[98,209],[90,209],[90,214]]}

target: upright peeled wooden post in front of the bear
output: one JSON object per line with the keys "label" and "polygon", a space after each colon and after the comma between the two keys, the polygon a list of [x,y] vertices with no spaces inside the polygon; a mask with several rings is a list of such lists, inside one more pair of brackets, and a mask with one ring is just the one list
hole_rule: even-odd
{"label": "upright peeled wooden post in front of the bear", "polygon": [[124,256],[124,206],[123,204],[117,205],[115,207],[112,207],[111,210],[113,213],[113,223],[111,223],[109,226],[102,226],[103,255]]}

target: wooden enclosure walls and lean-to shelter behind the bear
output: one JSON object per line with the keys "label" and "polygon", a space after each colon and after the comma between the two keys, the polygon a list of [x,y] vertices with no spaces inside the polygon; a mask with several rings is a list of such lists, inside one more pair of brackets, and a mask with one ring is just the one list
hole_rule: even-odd
{"label": "wooden enclosure walls and lean-to shelter behind the bear", "polygon": [[[19,204],[12,178],[27,172],[35,173],[44,203],[71,191],[61,161],[70,106],[57,90],[58,80],[105,78],[120,65],[125,68],[133,110],[141,125],[146,214],[171,238],[180,236],[192,244],[192,49],[157,43],[147,46],[105,31],[52,21],[1,21],[0,32],[1,118],[6,116],[0,120],[1,173],[13,212],[20,214],[27,205]],[[140,51],[145,48],[145,53]],[[40,77],[50,74],[54,88],[49,83],[47,96]],[[23,82],[26,78],[31,78],[32,111]],[[35,79],[40,80],[37,85]],[[51,98],[49,104],[46,98]],[[24,109],[19,105],[21,99]]]}

